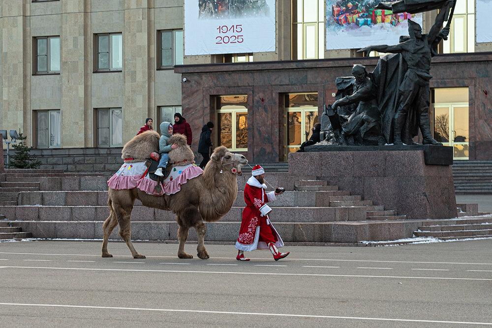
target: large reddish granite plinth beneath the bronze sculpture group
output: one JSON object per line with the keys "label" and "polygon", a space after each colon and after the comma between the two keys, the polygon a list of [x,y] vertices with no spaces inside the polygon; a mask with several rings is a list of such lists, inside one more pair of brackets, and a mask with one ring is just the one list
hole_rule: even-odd
{"label": "large reddish granite plinth beneath the bronze sculpture group", "polygon": [[310,150],[315,151],[289,154],[290,175],[327,179],[408,219],[457,216],[451,147],[316,146]]}

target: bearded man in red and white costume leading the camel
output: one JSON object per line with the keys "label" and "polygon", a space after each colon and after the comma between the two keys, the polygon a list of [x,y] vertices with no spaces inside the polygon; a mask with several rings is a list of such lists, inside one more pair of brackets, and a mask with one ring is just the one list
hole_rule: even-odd
{"label": "bearded man in red and white costume leading the camel", "polygon": [[239,237],[236,241],[238,255],[236,260],[249,261],[244,252],[255,249],[270,249],[274,260],[283,259],[289,252],[280,253],[278,247],[282,247],[283,241],[275,230],[268,213],[272,209],[265,203],[277,200],[277,195],[283,193],[283,188],[277,188],[269,193],[265,192],[265,170],[260,165],[255,165],[251,171],[251,178],[246,181],[244,191],[246,207],[243,210],[243,220]]}

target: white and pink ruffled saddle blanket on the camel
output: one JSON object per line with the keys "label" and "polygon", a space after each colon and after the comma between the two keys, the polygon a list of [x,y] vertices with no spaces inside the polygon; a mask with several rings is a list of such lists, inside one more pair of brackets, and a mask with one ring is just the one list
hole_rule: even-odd
{"label": "white and pink ruffled saddle blanket on the camel", "polygon": [[137,188],[153,196],[172,195],[181,190],[183,183],[203,174],[203,170],[195,164],[174,166],[171,174],[161,184],[160,191],[157,191],[155,187],[158,182],[149,177],[149,169],[145,163],[124,163],[108,180],[108,186],[116,190]]}

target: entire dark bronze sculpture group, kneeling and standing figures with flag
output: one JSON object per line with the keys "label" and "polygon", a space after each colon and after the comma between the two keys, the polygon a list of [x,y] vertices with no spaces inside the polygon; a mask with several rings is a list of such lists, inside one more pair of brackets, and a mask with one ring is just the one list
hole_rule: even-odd
{"label": "entire dark bronze sculpture group, kneeling and standing figures with flag", "polygon": [[[427,34],[419,24],[408,20],[409,36],[400,36],[396,45],[372,45],[360,49],[389,53],[381,56],[376,68],[368,72],[354,65],[354,77],[338,77],[338,92],[332,105],[325,105],[321,118],[323,139],[331,145],[376,146],[414,145],[422,133],[423,144],[441,145],[431,135],[429,120],[431,57],[437,45],[447,39],[454,9],[453,0],[405,0],[381,2],[377,7],[394,13],[417,13],[439,8]],[[446,27],[442,28],[445,20]]]}

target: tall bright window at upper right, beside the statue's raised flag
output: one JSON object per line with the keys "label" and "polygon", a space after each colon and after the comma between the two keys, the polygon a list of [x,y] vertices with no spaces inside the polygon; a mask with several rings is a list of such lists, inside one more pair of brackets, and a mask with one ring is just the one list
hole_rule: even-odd
{"label": "tall bright window at upper right, beside the statue's raised flag", "polygon": [[475,52],[475,1],[457,0],[447,40],[442,43],[442,53]]}

